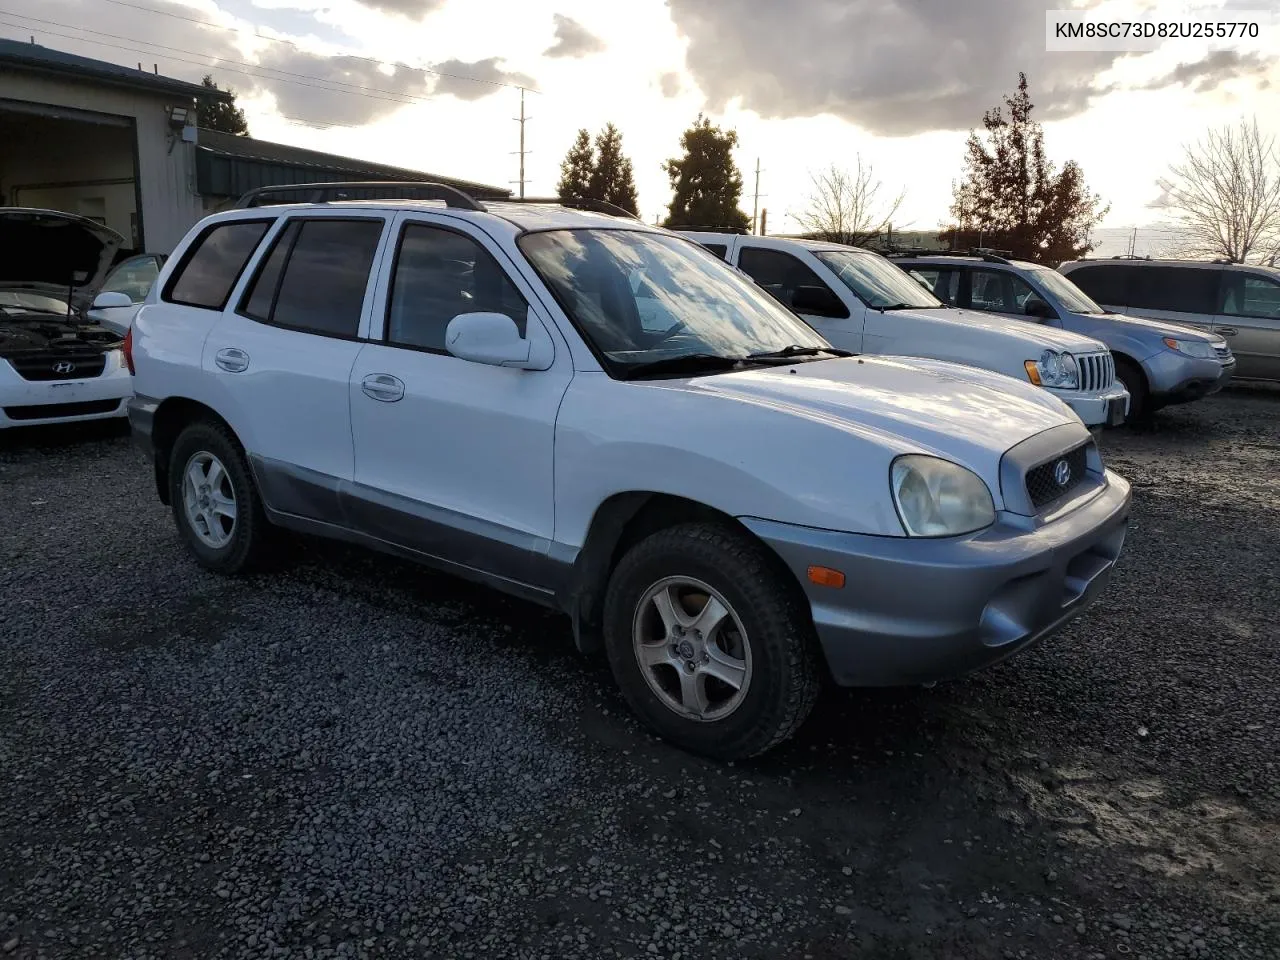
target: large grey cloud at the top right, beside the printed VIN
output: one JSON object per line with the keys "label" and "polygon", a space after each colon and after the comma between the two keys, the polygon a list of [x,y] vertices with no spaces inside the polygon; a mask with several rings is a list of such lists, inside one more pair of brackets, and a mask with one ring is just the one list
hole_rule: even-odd
{"label": "large grey cloud at the top right, beside the printed VIN", "polygon": [[[833,114],[887,136],[977,127],[984,110],[1012,92],[1019,70],[1044,120],[1079,114],[1116,90],[1098,76],[1135,54],[1044,50],[1044,12],[1068,5],[668,0],[687,40],[687,68],[712,109],[741,97],[767,118]],[[1219,63],[1197,77],[1226,69]]]}

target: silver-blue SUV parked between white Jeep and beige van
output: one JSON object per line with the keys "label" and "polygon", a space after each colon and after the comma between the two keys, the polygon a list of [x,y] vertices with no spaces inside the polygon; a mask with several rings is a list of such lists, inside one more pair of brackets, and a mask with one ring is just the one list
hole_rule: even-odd
{"label": "silver-blue SUV parked between white Jeep and beige van", "polygon": [[1062,274],[992,252],[896,256],[893,262],[957,307],[1005,314],[1102,340],[1129,390],[1129,417],[1222,389],[1235,370],[1226,340],[1211,330],[1121,315],[1100,306]]}

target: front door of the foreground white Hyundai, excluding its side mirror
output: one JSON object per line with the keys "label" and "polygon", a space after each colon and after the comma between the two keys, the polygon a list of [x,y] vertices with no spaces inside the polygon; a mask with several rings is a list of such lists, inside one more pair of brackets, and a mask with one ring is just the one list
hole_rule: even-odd
{"label": "front door of the foreground white Hyundai, excluding its side mirror", "polygon": [[532,291],[483,233],[430,214],[406,214],[396,230],[374,334],[351,371],[348,515],[371,536],[549,591],[568,351],[554,349],[545,370],[452,356],[444,334],[458,314],[506,314],[521,335],[556,339]]}

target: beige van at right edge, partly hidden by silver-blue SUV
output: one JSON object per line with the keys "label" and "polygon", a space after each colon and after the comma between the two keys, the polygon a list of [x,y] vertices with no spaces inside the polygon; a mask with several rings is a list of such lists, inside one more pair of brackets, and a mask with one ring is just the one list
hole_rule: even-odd
{"label": "beige van at right edge, partly hidden by silver-blue SUV", "polygon": [[1231,344],[1243,380],[1280,380],[1280,270],[1194,260],[1076,260],[1059,268],[1111,310],[1172,320]]}

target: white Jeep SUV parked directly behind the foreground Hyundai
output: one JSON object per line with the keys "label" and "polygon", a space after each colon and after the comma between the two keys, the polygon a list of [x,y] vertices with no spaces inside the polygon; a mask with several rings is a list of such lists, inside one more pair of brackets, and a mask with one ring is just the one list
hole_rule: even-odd
{"label": "white Jeep SUV parked directly behind the foreground Hyundai", "polygon": [[952,310],[879,253],[786,237],[684,236],[737,266],[836,347],[995,370],[1043,387],[1091,428],[1115,426],[1129,410],[1105,343]]}

